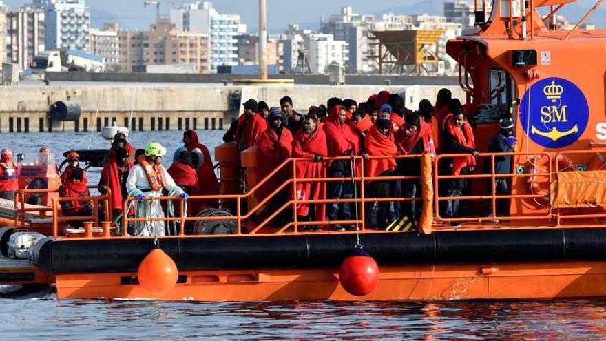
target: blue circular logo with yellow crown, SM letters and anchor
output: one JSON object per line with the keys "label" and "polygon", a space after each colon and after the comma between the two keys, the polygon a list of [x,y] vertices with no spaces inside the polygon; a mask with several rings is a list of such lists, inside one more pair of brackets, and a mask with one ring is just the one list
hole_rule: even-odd
{"label": "blue circular logo with yellow crown, SM letters and anchor", "polygon": [[585,132],[589,105],[585,94],[571,81],[541,79],[524,94],[520,121],[534,143],[547,148],[567,147]]}

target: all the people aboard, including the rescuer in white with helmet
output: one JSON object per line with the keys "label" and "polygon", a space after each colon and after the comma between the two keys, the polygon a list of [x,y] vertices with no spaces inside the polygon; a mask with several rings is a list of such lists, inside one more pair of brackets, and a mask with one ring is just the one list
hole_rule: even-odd
{"label": "all the people aboard, including the rescuer in white with helmet", "polygon": [[[280,107],[269,107],[264,101],[249,99],[243,103],[244,112],[224,134],[225,142],[235,143],[238,156],[244,150],[256,146],[258,158],[257,178],[263,179],[274,173],[288,158],[304,158],[295,163],[297,178],[342,178],[343,180],[297,182],[294,193],[297,200],[342,199],[338,203],[299,203],[296,211],[284,210],[278,219],[290,221],[293,214],[299,221],[344,222],[332,223],[335,231],[356,231],[357,225],[348,223],[357,220],[359,205],[351,199],[359,198],[365,190],[366,198],[418,198],[421,192],[419,180],[368,180],[364,189],[352,176],[364,174],[366,178],[410,176],[418,177],[421,172],[419,158],[394,158],[401,155],[421,155],[434,157],[437,154],[467,154],[448,158],[439,163],[439,172],[447,175],[469,174],[477,165],[479,156],[475,144],[472,105],[461,105],[452,99],[447,89],[437,94],[435,105],[428,99],[420,101],[417,110],[405,107],[404,100],[397,94],[382,91],[370,96],[362,103],[353,99],[328,99],[326,105],[309,107],[306,114],[294,110],[289,96],[280,99]],[[513,124],[508,118],[500,121],[500,130],[490,141],[488,152],[512,152],[516,139],[512,136]],[[41,152],[43,152],[41,150]],[[49,151],[50,152],[50,151]],[[0,159],[0,198],[12,199],[17,191],[19,165],[12,160],[10,149],[2,149]],[[174,152],[168,169],[163,167],[167,154],[159,143],[149,143],[145,149],[134,149],[125,134],[114,136],[112,145],[103,161],[103,171],[98,190],[111,193],[113,216],[127,214],[160,218],[165,211],[174,214],[174,205],[165,207],[158,200],[145,200],[158,196],[182,196],[185,198],[187,213],[195,215],[207,207],[219,207],[218,200],[191,200],[189,196],[216,196],[220,194],[218,179],[208,148],[200,143],[194,130],[183,134],[183,146]],[[364,159],[364,169],[351,156]],[[324,158],[341,157],[337,160]],[[490,160],[484,165],[485,172],[492,172]],[[511,157],[495,157],[495,172],[507,174],[511,171]],[[258,188],[255,197],[258,202],[272,196],[265,207],[269,216],[291,199],[292,187],[277,191],[291,178],[292,168],[284,167],[273,174]],[[90,196],[87,176],[80,167],[79,155],[67,155],[67,167],[61,174],[59,195],[69,198]],[[466,190],[466,180],[456,178],[443,180],[441,195],[452,197],[445,200],[441,216],[459,216],[459,200]],[[508,194],[505,178],[497,178],[499,194]],[[273,193],[276,192],[276,193]],[[127,197],[134,197],[133,205],[124,206]],[[390,202],[377,200],[364,204],[367,226],[386,229],[401,217],[415,223],[421,207],[415,201]],[[72,200],[61,202],[64,214],[70,216],[90,216],[90,201]],[[223,207],[225,208],[225,207]],[[260,212],[258,212],[260,214]],[[278,221],[278,223],[284,223]],[[72,223],[76,225],[77,223]],[[453,222],[452,226],[459,226]],[[306,229],[317,230],[319,225],[310,224]],[[163,222],[149,220],[137,222],[129,234],[159,236],[170,233]]]}

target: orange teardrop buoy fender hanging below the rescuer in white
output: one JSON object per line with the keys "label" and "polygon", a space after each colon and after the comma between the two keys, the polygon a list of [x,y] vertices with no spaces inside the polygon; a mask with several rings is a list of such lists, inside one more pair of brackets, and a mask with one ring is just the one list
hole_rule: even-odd
{"label": "orange teardrop buoy fender hanging below the rescuer in white", "polygon": [[177,265],[161,249],[149,252],[137,271],[141,287],[156,295],[171,291],[177,284],[178,276]]}

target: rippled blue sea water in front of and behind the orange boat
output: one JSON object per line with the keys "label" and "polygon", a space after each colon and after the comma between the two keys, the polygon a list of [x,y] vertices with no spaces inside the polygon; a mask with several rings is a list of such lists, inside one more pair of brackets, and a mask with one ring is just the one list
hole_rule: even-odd
{"label": "rippled blue sea water in front of and behind the orange boat", "polygon": [[[211,153],[223,132],[200,132]],[[180,132],[134,132],[169,152]],[[69,149],[105,148],[98,134],[5,134],[0,148],[36,152],[48,145],[61,161]],[[100,169],[90,169],[91,181]],[[0,286],[4,340],[570,340],[606,338],[606,299],[525,302],[154,302],[56,300],[40,291]],[[10,338],[10,339],[9,339]]]}

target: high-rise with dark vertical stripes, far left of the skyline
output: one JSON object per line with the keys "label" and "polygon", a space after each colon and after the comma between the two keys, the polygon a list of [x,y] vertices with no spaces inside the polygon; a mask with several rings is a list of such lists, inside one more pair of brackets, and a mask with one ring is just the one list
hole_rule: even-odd
{"label": "high-rise with dark vertical stripes, far left of the skyline", "polygon": [[6,12],[6,61],[29,67],[34,56],[44,48],[44,10],[21,7]]}

